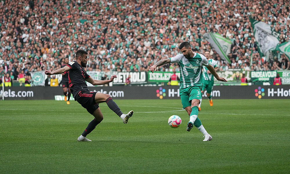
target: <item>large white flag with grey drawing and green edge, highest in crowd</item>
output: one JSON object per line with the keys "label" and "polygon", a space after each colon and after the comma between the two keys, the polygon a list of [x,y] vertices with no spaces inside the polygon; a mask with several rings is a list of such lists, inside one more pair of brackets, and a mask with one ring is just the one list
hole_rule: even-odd
{"label": "large white flag with grey drawing and green edge, highest in crowd", "polygon": [[273,31],[271,26],[267,23],[256,21],[252,18],[250,18],[250,22],[260,57],[268,57],[267,55],[269,55],[269,53],[267,52],[276,49],[276,46],[279,44],[278,37],[280,34]]}

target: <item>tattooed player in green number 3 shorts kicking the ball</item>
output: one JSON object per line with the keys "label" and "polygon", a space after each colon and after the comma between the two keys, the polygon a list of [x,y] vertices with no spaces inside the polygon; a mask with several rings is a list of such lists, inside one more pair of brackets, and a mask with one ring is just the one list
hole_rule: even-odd
{"label": "tattooed player in green number 3 shorts kicking the ball", "polygon": [[182,42],[179,46],[182,54],[175,55],[168,59],[162,59],[156,64],[150,67],[150,71],[153,73],[158,66],[169,63],[177,63],[180,67],[180,87],[179,93],[183,108],[189,115],[189,122],[187,124],[186,131],[190,131],[193,125],[204,134],[203,141],[212,140],[211,135],[207,133],[205,128],[197,118],[198,104],[201,99],[202,89],[202,66],[206,66],[207,69],[213,74],[213,76],[219,80],[227,82],[226,79],[219,77],[213,66],[209,64],[209,61],[204,55],[193,52],[188,42]]}

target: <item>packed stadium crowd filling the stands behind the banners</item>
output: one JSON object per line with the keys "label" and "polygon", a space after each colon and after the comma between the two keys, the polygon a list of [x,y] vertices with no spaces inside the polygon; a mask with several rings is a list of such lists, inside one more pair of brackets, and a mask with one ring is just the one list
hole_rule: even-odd
{"label": "packed stadium crowd filling the stands behind the banners", "polygon": [[[15,80],[60,68],[78,49],[88,51],[90,71],[148,71],[160,59],[179,54],[182,41],[196,52],[211,50],[221,70],[289,69],[288,57],[280,52],[262,61],[249,22],[249,17],[264,21],[281,33],[281,42],[289,41],[286,0],[2,0],[0,16],[0,75]],[[203,39],[206,32],[232,41],[231,63],[211,49]]]}

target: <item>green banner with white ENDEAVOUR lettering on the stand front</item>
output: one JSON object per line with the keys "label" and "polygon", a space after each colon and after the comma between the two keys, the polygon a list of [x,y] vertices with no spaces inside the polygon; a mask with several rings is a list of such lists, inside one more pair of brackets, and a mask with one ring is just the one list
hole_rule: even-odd
{"label": "green banner with white ENDEAVOUR lettering on the stand front", "polygon": [[277,71],[251,71],[251,81],[254,85],[271,85],[276,76]]}

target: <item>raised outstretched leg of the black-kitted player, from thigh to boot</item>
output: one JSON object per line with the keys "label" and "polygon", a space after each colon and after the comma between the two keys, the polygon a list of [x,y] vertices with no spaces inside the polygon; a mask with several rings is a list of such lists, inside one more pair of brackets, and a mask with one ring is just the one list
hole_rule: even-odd
{"label": "raised outstretched leg of the black-kitted player, from thigh to boot", "polygon": [[128,124],[128,119],[133,116],[134,111],[131,110],[127,114],[122,113],[118,105],[113,101],[112,97],[108,94],[96,93],[95,95],[96,103],[106,102],[108,107],[113,110],[120,118],[122,118],[123,123]]}

